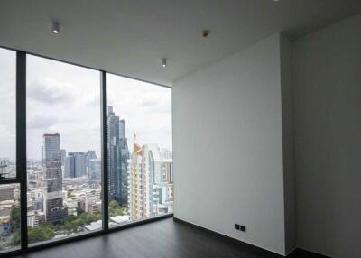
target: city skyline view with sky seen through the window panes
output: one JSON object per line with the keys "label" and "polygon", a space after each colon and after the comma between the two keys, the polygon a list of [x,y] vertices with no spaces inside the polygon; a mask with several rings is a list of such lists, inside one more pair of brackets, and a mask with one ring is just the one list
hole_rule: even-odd
{"label": "city skyline view with sky seen through the window panes", "polygon": [[[32,56],[27,75],[28,243],[100,230],[98,75]],[[109,227],[172,212],[171,89],[117,76],[108,84]],[[14,178],[14,153],[5,154],[0,177]],[[20,246],[19,184],[0,185],[0,223],[0,252]]]}

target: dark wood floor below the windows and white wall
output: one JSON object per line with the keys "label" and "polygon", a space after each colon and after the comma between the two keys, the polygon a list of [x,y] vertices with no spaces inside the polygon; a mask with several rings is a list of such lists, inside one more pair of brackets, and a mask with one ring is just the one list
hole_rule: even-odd
{"label": "dark wood floor below the windows and white wall", "polygon": [[[18,258],[280,257],[258,252],[198,228],[162,219],[107,235],[62,244]],[[297,256],[310,257],[310,256]]]}

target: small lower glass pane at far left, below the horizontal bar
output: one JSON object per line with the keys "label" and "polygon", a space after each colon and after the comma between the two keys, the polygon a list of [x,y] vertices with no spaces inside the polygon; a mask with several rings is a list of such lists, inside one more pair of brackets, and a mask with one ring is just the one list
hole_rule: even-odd
{"label": "small lower glass pane at far left, below the horizontal bar", "polygon": [[20,187],[0,185],[0,253],[20,248]]}

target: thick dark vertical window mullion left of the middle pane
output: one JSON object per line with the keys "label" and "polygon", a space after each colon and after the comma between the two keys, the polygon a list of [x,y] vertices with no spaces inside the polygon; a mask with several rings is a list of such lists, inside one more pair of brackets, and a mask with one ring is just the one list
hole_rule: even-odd
{"label": "thick dark vertical window mullion left of the middle pane", "polygon": [[16,52],[16,170],[20,179],[21,244],[28,248],[26,204],[26,53]]}

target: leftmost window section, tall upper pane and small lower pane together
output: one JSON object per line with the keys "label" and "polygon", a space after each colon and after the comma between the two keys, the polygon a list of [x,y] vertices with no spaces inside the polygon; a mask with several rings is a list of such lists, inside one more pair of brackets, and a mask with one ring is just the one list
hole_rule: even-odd
{"label": "leftmost window section, tall upper pane and small lower pane together", "polygon": [[0,253],[20,247],[16,172],[16,52],[0,49]]}

